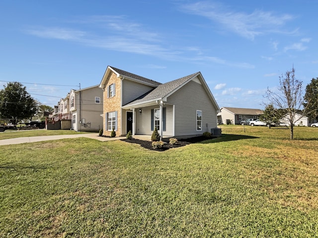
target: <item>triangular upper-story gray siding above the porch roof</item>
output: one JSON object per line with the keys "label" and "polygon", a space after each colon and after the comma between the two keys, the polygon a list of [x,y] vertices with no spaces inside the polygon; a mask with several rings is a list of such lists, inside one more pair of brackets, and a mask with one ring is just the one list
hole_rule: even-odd
{"label": "triangular upper-story gray siding above the porch roof", "polygon": [[122,82],[122,105],[130,103],[131,101],[135,100],[136,98],[140,97],[141,95],[149,92],[153,89],[153,87],[134,82],[131,80],[124,79]]}

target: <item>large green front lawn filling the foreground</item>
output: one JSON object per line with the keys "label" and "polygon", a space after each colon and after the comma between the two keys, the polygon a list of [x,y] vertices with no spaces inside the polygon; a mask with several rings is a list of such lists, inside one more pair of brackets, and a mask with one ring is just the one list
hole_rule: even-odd
{"label": "large green front lawn filling the foreground", "polygon": [[0,146],[0,237],[318,237],[318,128],[221,127],[164,152]]}

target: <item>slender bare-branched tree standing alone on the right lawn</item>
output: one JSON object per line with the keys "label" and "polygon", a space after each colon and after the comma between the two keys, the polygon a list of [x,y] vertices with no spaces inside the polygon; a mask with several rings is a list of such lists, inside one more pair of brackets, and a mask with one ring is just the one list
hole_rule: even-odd
{"label": "slender bare-branched tree standing alone on the right lawn", "polygon": [[294,138],[294,125],[300,117],[296,114],[302,112],[303,106],[303,82],[295,78],[294,67],[279,77],[278,92],[267,88],[265,98],[277,110],[284,112],[285,119],[290,128],[290,139]]}

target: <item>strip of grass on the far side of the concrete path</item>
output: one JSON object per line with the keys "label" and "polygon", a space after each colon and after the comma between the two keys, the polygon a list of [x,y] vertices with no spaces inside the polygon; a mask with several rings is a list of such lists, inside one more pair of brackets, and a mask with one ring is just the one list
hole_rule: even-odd
{"label": "strip of grass on the far side of the concrete path", "polygon": [[29,137],[29,136],[72,135],[72,134],[79,134],[79,133],[90,133],[90,132],[77,132],[74,130],[46,130],[46,129],[5,130],[4,132],[0,132],[0,140],[18,138],[18,137]]}

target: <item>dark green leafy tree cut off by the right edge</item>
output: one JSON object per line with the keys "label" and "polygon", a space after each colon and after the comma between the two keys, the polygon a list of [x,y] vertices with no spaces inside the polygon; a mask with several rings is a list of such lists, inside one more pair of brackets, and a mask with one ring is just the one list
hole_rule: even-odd
{"label": "dark green leafy tree cut off by the right edge", "polygon": [[318,120],[318,78],[313,78],[306,86],[303,105],[306,115]]}

